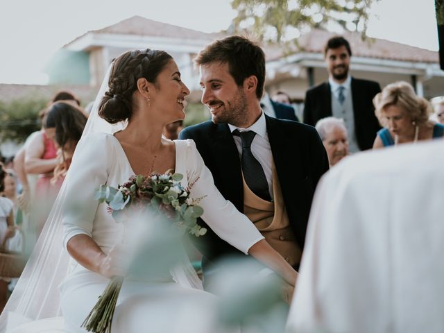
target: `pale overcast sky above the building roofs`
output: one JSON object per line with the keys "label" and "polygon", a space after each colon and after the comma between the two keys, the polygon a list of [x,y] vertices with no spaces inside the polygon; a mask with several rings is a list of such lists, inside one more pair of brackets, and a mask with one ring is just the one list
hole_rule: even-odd
{"label": "pale overcast sky above the building roofs", "polygon": [[[44,66],[60,47],[134,15],[207,33],[236,16],[230,0],[0,1],[0,83],[45,84]],[[434,0],[379,0],[368,35],[437,51]]]}

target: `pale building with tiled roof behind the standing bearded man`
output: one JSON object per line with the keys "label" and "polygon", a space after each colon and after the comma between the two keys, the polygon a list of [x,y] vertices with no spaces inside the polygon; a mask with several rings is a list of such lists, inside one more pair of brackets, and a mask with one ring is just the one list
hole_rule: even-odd
{"label": "pale building with tiled roof behind the standing bearded man", "polygon": [[[293,99],[302,101],[309,87],[327,80],[323,49],[325,42],[334,35],[317,29],[302,35],[298,40],[298,52],[276,46],[267,48],[268,92],[283,90]],[[359,33],[344,33],[343,36],[352,49],[352,76],[375,80],[381,87],[404,80],[427,99],[444,94],[444,71],[439,68],[438,52],[388,40],[368,38],[363,41]]]}

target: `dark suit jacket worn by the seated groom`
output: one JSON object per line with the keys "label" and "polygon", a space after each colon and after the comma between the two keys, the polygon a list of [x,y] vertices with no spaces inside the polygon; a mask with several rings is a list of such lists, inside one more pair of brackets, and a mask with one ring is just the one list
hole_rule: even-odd
{"label": "dark suit jacket worn by the seated groom", "polygon": [[[282,189],[289,222],[302,249],[305,231],[319,178],[328,170],[325,148],[316,130],[296,121],[266,117],[266,129],[273,160]],[[244,187],[241,161],[228,124],[212,121],[182,130],[180,139],[193,139],[205,165],[214,177],[214,184],[240,212],[244,212]],[[205,222],[200,221],[201,225]],[[198,237],[196,246],[203,254],[205,279],[214,271],[214,262],[225,255],[241,254],[217,237],[210,228]]]}

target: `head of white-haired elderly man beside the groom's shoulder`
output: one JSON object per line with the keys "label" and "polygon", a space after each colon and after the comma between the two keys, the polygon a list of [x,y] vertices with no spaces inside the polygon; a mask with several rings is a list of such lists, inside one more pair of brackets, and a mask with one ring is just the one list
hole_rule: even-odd
{"label": "head of white-haired elderly man beside the groom's shoulder", "polygon": [[347,128],[343,119],[327,117],[316,123],[316,130],[327,151],[330,167],[348,155]]}

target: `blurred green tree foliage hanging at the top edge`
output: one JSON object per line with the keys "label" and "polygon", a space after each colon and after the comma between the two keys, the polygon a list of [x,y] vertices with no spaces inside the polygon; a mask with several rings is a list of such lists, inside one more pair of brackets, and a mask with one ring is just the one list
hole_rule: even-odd
{"label": "blurred green tree foliage hanging at the top edge", "polygon": [[332,23],[355,27],[365,35],[370,5],[377,1],[232,0],[232,8],[238,12],[233,26],[237,32],[252,31],[267,42],[286,42],[309,28]]}

